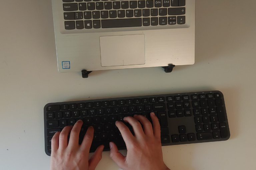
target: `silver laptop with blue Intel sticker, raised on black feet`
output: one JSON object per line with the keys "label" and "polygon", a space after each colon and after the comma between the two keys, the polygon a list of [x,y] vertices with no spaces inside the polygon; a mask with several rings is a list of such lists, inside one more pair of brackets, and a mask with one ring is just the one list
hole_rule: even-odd
{"label": "silver laptop with blue Intel sticker, raised on black feet", "polygon": [[195,0],[52,0],[59,72],[195,62]]}

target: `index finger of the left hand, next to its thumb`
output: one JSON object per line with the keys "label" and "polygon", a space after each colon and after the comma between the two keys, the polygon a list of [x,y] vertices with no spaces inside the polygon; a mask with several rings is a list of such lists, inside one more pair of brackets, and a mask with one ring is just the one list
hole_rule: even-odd
{"label": "index finger of the left hand, next to its thumb", "polygon": [[82,151],[85,151],[85,154],[89,154],[90,147],[92,144],[92,139],[93,139],[93,132],[94,132],[94,129],[92,126],[90,126],[87,129],[86,134],[84,135],[84,139],[80,147]]}

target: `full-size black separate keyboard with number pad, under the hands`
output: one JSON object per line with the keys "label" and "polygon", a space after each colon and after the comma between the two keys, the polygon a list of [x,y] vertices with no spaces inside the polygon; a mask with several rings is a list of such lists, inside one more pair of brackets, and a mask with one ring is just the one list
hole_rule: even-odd
{"label": "full-size black separate keyboard with number pad, under the hands", "polygon": [[[80,119],[84,125],[79,143],[87,128],[94,127],[90,152],[101,144],[105,145],[104,151],[109,150],[110,141],[116,143],[118,149],[126,149],[115,122],[136,114],[151,121],[150,112],[154,112],[159,119],[162,146],[221,141],[230,137],[224,98],[220,91],[96,99],[45,105],[45,152],[51,155],[51,139],[57,131],[74,125]],[[127,126],[133,133],[132,127]]]}

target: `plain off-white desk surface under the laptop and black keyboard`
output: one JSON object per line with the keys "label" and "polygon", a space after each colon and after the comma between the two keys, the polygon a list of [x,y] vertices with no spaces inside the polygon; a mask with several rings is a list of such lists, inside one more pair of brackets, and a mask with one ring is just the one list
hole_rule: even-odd
{"label": "plain off-white desk surface under the laptop and black keyboard", "polygon": [[[0,5],[0,166],[47,170],[43,107],[50,102],[220,90],[231,137],[165,146],[172,170],[254,170],[256,167],[256,1],[196,1],[195,64],[162,68],[59,73],[51,1]],[[122,151],[125,153],[125,151]],[[118,170],[103,153],[96,170]]]}

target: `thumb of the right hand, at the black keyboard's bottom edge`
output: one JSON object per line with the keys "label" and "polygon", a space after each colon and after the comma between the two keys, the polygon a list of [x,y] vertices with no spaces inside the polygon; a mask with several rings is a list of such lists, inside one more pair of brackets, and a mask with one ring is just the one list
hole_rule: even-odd
{"label": "thumb of the right hand, at the black keyboard's bottom edge", "polygon": [[109,142],[110,154],[109,156],[113,161],[122,169],[125,167],[125,156],[118,152],[117,146],[114,142]]}

